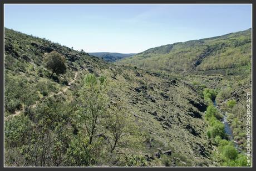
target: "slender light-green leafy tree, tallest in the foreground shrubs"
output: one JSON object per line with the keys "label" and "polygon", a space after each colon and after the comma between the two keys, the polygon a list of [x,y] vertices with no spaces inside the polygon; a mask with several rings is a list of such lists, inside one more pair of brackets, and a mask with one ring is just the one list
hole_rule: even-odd
{"label": "slender light-green leafy tree, tallest in the foreground shrubs", "polygon": [[88,74],[83,80],[83,87],[78,97],[78,120],[79,126],[89,136],[89,144],[97,131],[99,118],[106,114],[107,95],[106,80],[102,77],[97,79],[95,75]]}

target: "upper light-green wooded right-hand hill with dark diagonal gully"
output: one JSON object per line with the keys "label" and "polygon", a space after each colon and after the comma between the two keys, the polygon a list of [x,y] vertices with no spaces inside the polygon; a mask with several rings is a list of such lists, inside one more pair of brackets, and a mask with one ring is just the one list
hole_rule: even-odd
{"label": "upper light-green wooded right-hand hill with dark diagonal gully", "polygon": [[151,48],[122,59],[117,64],[165,73],[226,74],[227,69],[236,72],[251,65],[251,42],[252,29],[248,29],[219,37]]}

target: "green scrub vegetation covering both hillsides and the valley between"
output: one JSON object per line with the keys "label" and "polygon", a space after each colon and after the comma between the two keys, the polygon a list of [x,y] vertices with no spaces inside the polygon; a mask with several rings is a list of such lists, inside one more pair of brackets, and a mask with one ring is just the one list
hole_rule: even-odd
{"label": "green scrub vegetation covering both hillsides and the valley between", "polygon": [[[246,165],[244,94],[251,90],[248,35],[250,30],[152,48],[135,55],[139,65],[117,66],[6,28],[5,165]],[[233,39],[239,39],[236,45]],[[241,61],[245,63],[235,59],[242,53],[239,48],[244,49]],[[221,54],[226,50],[230,54]],[[208,55],[195,66],[196,54],[202,51]],[[224,67],[215,61],[217,54],[226,61],[236,53]],[[157,67],[151,66],[151,60],[140,65],[136,56],[142,54],[148,55],[145,60],[158,56]],[[164,55],[165,61],[160,60]],[[47,65],[49,56],[58,56],[60,65]],[[215,66],[208,70],[208,58],[220,70]],[[173,68],[166,70],[158,63]],[[57,66],[60,72],[52,70]],[[223,112],[239,148],[225,133]]]}

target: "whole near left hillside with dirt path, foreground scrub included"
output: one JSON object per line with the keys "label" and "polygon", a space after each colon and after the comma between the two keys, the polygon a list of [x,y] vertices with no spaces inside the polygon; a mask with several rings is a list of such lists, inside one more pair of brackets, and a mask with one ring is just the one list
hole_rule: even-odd
{"label": "whole near left hillside with dirt path, foreground scrub included", "polygon": [[[4,43],[6,166],[219,165],[213,158],[214,146],[206,136],[206,103],[190,82],[116,66],[7,28]],[[52,51],[65,56],[66,74],[51,77],[45,68],[43,56]],[[131,146],[125,141],[109,154],[109,128],[102,125],[97,127],[93,144],[86,146],[77,111],[83,78],[88,74],[106,78],[108,111],[114,112],[111,107],[121,101],[125,115],[131,115],[143,141],[130,138],[134,141]],[[93,153],[87,151],[90,149]],[[87,157],[89,154],[92,156]]]}

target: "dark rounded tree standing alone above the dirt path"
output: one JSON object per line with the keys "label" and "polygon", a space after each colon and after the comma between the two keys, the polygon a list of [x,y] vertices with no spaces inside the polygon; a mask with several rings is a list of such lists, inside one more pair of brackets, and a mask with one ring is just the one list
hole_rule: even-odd
{"label": "dark rounded tree standing alone above the dirt path", "polygon": [[65,57],[57,51],[52,51],[51,53],[45,54],[45,58],[43,60],[46,68],[52,71],[51,76],[54,73],[56,73],[57,75],[65,74],[67,70],[65,64]]}

